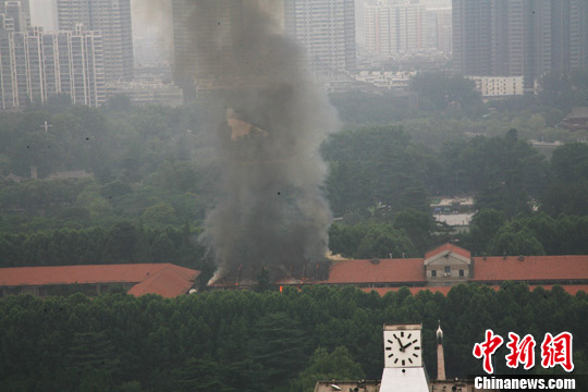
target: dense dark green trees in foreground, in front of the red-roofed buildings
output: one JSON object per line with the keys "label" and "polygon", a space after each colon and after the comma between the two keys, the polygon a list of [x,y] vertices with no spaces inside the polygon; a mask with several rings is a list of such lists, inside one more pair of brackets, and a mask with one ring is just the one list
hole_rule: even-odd
{"label": "dense dark green trees in foreground, in front of the red-roofed buildings", "polygon": [[[7,392],[306,392],[318,379],[379,379],[384,322],[424,323],[425,363],[436,375],[438,319],[449,377],[481,371],[471,347],[487,328],[539,341],[546,332],[569,331],[577,372],[585,373],[587,317],[585,293],[529,292],[511,283],[498,292],[460,285],[446,297],[406,289],[380,297],[327,286],[173,301],[13,296],[0,302],[0,379]],[[504,350],[497,354],[498,372],[512,373]]]}

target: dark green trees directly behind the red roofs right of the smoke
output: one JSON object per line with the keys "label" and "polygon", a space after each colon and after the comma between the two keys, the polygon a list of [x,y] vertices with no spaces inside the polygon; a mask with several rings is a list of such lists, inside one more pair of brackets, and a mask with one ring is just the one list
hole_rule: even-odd
{"label": "dark green trees directly behind the red roofs right of the smoke", "polygon": [[[334,223],[329,246],[352,258],[422,257],[452,237],[429,215],[403,210],[391,223]],[[474,216],[469,232],[456,237],[475,256],[587,255],[588,216],[552,218],[539,212],[506,219],[501,211],[482,209]]]}

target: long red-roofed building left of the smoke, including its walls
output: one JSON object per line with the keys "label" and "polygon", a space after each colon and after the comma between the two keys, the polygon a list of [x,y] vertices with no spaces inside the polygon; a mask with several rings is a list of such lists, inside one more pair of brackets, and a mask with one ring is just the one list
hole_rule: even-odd
{"label": "long red-roofed building left of the smoke, including its walls", "polygon": [[100,294],[121,286],[135,296],[175,297],[187,293],[199,274],[173,264],[0,268],[0,295],[48,296],[72,291]]}

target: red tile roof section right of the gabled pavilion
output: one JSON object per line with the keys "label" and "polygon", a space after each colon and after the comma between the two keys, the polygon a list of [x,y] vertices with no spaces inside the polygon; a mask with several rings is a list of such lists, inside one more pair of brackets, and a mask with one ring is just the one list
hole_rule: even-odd
{"label": "red tile roof section right of the gabled pavilion", "polygon": [[518,256],[474,258],[473,282],[588,279],[588,256]]}

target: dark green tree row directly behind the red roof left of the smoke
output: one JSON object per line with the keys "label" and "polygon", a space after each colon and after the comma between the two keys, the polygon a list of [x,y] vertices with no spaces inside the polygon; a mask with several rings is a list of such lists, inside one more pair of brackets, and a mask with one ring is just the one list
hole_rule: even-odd
{"label": "dark green tree row directly behind the red roof left of the smoke", "polygon": [[1,267],[173,262],[210,271],[203,261],[199,230],[148,229],[120,222],[109,229],[60,229],[30,234],[0,233]]}

